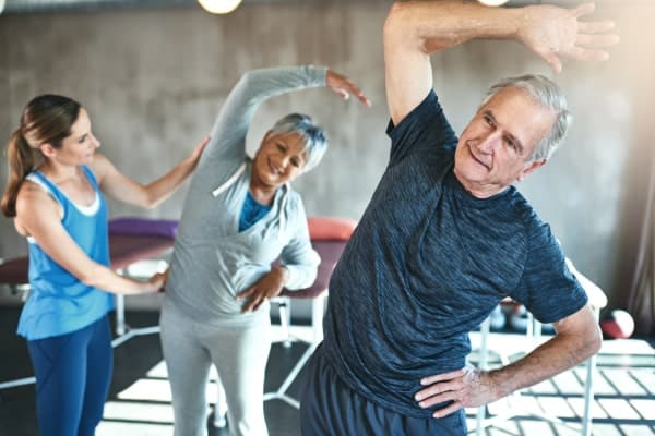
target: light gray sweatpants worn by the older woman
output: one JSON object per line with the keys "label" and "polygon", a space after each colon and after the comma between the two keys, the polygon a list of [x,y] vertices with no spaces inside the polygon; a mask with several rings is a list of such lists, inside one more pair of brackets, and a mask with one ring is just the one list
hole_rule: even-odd
{"label": "light gray sweatpants worn by the older woman", "polygon": [[227,398],[231,436],[266,436],[264,373],[271,351],[271,319],[248,326],[207,326],[165,302],[159,319],[175,411],[175,436],[205,436],[206,386],[216,365]]}

